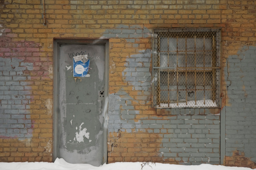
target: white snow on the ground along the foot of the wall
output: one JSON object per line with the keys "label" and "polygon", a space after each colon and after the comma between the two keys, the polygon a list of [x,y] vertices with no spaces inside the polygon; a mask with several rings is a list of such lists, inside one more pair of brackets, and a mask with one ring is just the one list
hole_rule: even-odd
{"label": "white snow on the ground along the foot of the wall", "polygon": [[[143,165],[143,167],[142,167]],[[244,167],[228,167],[221,165],[170,165],[161,163],[116,162],[100,167],[89,164],[70,164],[62,158],[54,163],[49,162],[0,162],[0,170],[252,170]],[[256,169],[254,169],[256,170]]]}

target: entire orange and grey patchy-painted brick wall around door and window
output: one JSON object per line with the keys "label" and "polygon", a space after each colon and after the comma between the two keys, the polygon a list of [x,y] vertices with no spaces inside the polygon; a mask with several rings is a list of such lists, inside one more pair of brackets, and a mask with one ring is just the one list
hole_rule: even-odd
{"label": "entire orange and grey patchy-painted brick wall around door and window", "polygon": [[[255,166],[252,0],[0,1],[0,161],[52,161],[53,38],[109,38],[108,162]],[[222,110],[151,108],[152,29],[222,30]],[[220,152],[225,158],[220,159]]]}

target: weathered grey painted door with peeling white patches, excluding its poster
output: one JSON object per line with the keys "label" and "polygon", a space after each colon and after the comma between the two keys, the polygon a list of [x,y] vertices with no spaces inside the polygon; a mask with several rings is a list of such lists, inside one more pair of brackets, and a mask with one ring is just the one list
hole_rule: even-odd
{"label": "weathered grey painted door with peeling white patches, excluding its poster", "polygon": [[[73,77],[73,56],[89,55],[89,77]],[[105,44],[59,44],[58,157],[103,163]],[[87,75],[87,76],[88,76]]]}

